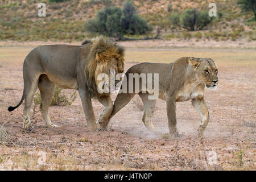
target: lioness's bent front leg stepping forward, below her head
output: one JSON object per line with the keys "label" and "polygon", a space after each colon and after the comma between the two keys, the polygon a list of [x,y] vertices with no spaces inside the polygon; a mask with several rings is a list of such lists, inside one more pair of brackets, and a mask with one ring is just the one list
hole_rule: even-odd
{"label": "lioness's bent front leg stepping forward, below her head", "polygon": [[199,137],[203,135],[205,127],[209,122],[209,111],[207,104],[204,101],[204,97],[202,98],[194,98],[192,100],[192,105],[195,107],[196,111],[201,115],[202,120],[199,128],[197,129]]}

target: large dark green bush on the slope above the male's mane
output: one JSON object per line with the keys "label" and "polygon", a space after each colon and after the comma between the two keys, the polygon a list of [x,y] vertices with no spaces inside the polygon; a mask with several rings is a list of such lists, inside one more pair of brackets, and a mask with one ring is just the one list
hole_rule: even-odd
{"label": "large dark green bush on the slope above the male's mane", "polygon": [[152,28],[147,21],[136,14],[136,9],[130,1],[126,1],[123,10],[119,7],[108,7],[97,11],[94,19],[84,24],[85,31],[100,33],[121,40],[123,34],[146,34]]}

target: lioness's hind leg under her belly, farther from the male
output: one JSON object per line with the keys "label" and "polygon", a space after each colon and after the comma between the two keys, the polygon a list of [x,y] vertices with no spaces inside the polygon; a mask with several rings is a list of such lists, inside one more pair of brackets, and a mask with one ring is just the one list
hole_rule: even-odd
{"label": "lioness's hind leg under her belly, farther from the male", "polygon": [[142,121],[148,130],[155,132],[156,130],[155,127],[152,125],[151,117],[154,115],[156,100],[148,100],[148,96],[149,95],[145,93],[139,94],[139,97],[141,97],[143,102],[144,110]]}

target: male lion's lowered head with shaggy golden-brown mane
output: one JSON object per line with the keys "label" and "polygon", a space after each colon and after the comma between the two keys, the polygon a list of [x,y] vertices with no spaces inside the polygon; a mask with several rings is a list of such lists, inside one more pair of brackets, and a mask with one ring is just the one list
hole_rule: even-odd
{"label": "male lion's lowered head with shaggy golden-brown mane", "polygon": [[103,89],[107,86],[110,92],[110,89],[115,89],[116,84],[122,80],[125,66],[124,49],[102,36],[85,42],[92,43],[86,73],[89,72],[89,79],[94,80],[97,87]]}

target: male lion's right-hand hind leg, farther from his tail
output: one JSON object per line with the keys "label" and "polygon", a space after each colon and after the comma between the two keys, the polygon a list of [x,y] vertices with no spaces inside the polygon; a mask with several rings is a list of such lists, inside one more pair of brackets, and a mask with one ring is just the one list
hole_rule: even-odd
{"label": "male lion's right-hand hind leg, farther from his tail", "polygon": [[46,75],[41,75],[38,82],[38,88],[40,90],[42,103],[40,105],[40,111],[44,122],[46,122],[47,127],[57,127],[53,125],[51,119],[48,115],[49,106],[51,105],[51,100],[53,92],[55,90],[55,84],[47,78]]}

